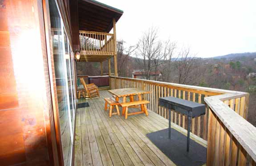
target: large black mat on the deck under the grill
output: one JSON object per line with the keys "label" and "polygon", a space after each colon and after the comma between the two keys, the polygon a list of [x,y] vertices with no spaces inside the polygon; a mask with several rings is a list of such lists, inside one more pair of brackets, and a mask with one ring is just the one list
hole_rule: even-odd
{"label": "large black mat on the deck under the grill", "polygon": [[206,147],[190,139],[187,152],[187,137],[173,128],[171,140],[168,138],[168,128],[148,133],[147,137],[178,166],[199,166],[206,163]]}

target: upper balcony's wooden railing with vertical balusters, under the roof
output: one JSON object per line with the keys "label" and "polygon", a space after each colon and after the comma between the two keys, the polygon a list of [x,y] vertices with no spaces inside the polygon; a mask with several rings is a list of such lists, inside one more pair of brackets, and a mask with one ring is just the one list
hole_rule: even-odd
{"label": "upper balcony's wooden railing with vertical balusters, under the roof", "polygon": [[80,54],[114,55],[114,34],[79,31]]}

